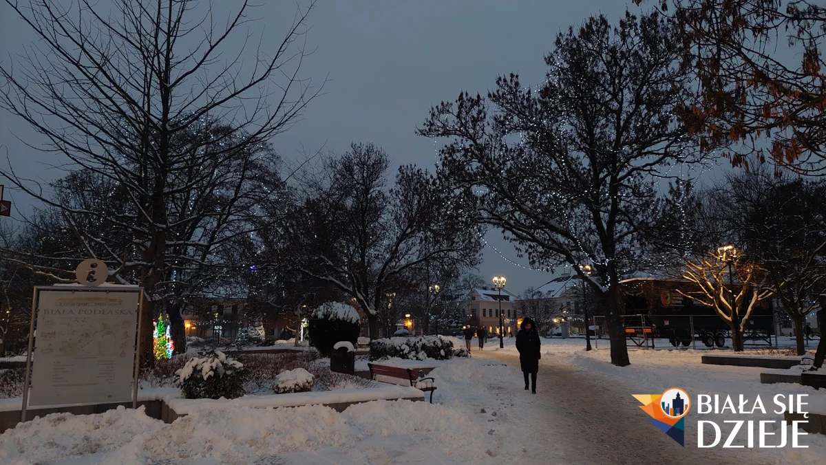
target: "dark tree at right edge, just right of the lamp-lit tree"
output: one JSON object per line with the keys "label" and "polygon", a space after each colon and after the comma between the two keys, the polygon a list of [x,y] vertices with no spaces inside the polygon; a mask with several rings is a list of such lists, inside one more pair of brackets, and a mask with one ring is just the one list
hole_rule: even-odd
{"label": "dark tree at right edge, just right of the lamp-lit tree", "polygon": [[826,291],[826,183],[758,168],[735,173],[708,192],[706,208],[733,243],[764,270],[795,325],[797,352],[805,353],[804,323]]}

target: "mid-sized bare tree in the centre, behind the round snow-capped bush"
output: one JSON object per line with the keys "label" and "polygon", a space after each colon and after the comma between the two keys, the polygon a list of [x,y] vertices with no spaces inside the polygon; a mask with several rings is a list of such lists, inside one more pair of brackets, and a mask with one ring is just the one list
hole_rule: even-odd
{"label": "mid-sized bare tree in the centre, behind the round snow-capped bush", "polygon": [[399,168],[388,187],[388,166],[382,149],[352,145],[328,161],[284,228],[290,266],[354,298],[371,338],[388,296],[410,282],[407,273],[423,263],[475,265],[481,248],[461,198],[413,167]]}

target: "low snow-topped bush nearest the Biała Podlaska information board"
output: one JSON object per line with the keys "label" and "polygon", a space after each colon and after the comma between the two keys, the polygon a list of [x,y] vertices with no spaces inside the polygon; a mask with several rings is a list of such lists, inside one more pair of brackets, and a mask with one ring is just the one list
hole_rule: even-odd
{"label": "low snow-topped bush nearest the Bia\u0142a Podlaska information board", "polygon": [[235,399],[244,395],[248,371],[238,360],[222,352],[193,357],[175,374],[185,399]]}

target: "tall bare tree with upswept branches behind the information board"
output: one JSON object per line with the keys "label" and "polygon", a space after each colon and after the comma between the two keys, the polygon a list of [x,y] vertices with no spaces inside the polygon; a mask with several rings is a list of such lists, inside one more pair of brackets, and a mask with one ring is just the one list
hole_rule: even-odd
{"label": "tall bare tree with upswept branches behind the information board", "polygon": [[[188,0],[126,0],[112,3],[112,12],[88,0],[69,6],[50,0],[7,3],[38,40],[0,65],[0,105],[47,140],[30,145],[33,149],[59,154],[64,169],[119,189],[129,208],[113,216],[89,211],[63,202],[60,192],[44,192],[12,168],[0,175],[63,211],[73,229],[78,216],[120,225],[129,234],[126,252],[94,244],[97,237],[79,230],[83,256],[76,259],[100,254],[117,260],[121,281],[140,283],[153,300],[164,299],[157,290],[169,280],[169,249],[196,247],[201,254],[188,254],[188,263],[211,259],[211,247],[203,245],[216,238],[204,228],[221,215],[232,216],[238,198],[223,185],[219,192],[204,192],[211,187],[209,178],[221,173],[202,163],[248,164],[239,175],[249,176],[253,154],[288,130],[320,92],[299,75],[312,4],[298,7],[270,51],[263,50],[262,37],[248,53],[252,5],[247,1],[238,2],[228,17]],[[244,45],[233,51],[235,36],[244,38]],[[211,195],[229,202],[216,205],[210,221],[192,221],[188,202]],[[170,211],[176,202],[180,216]],[[183,230],[197,230],[196,240],[178,234],[182,224]],[[127,277],[121,273],[126,269],[135,274]],[[145,312],[141,338],[147,361],[151,318]],[[173,319],[173,325],[180,321]]]}

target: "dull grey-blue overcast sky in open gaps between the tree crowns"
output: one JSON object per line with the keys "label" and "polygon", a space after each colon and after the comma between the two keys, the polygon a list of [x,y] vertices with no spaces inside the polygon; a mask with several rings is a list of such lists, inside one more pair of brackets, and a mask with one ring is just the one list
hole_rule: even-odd
{"label": "dull grey-blue overcast sky in open gaps between the tree crowns", "polygon": [[[107,2],[108,0],[100,0]],[[268,18],[292,15],[294,2],[260,2],[255,15],[264,25],[281,24]],[[305,3],[305,2],[302,2]],[[300,123],[273,140],[285,159],[297,158],[302,148],[343,152],[352,141],[372,141],[387,150],[396,166],[435,162],[432,140],[415,135],[431,105],[452,100],[459,91],[483,93],[496,76],[514,72],[523,83],[544,77],[544,55],[553,49],[561,29],[604,13],[619,19],[623,0],[320,0],[311,13],[308,47],[316,49],[306,59],[303,75],[323,79],[329,75],[325,95],[319,97]],[[638,12],[633,3],[632,12]],[[271,27],[273,38],[279,31]],[[0,59],[19,52],[34,37],[26,26],[0,5]],[[59,173],[48,164],[51,155],[38,154],[16,138],[38,142],[25,123],[0,110],[0,145],[18,172],[50,179]],[[394,166],[394,169],[396,168]],[[21,194],[6,198],[25,205]],[[548,273],[520,268],[501,234],[487,236],[479,273],[485,278],[504,274],[508,288],[521,292],[552,278]]]}

